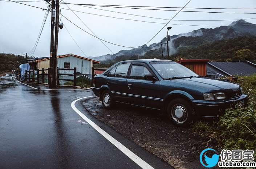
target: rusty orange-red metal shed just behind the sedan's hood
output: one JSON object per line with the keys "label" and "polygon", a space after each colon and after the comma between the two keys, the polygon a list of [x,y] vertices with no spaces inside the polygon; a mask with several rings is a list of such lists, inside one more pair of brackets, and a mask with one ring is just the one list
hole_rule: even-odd
{"label": "rusty orange-red metal shed just behind the sedan's hood", "polygon": [[177,62],[189,68],[199,76],[206,76],[206,65],[209,59],[180,59]]}

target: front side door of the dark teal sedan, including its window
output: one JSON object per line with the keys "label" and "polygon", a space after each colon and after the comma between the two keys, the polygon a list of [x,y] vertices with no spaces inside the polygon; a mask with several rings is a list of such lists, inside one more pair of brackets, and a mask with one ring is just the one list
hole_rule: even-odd
{"label": "front side door of the dark teal sedan, including its window", "polygon": [[145,80],[145,75],[154,76],[147,64],[132,63],[127,79],[129,103],[160,109],[160,82]]}

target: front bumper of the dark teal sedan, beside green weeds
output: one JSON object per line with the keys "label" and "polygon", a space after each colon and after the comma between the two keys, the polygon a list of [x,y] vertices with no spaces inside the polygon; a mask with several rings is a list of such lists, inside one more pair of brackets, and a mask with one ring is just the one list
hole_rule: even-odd
{"label": "front bumper of the dark teal sedan, beside green weeds", "polygon": [[192,100],[196,114],[202,117],[217,117],[225,109],[235,108],[238,102],[244,101],[244,105],[248,102],[248,96],[242,94],[239,97],[230,100],[218,100],[218,101],[207,101],[207,100]]}

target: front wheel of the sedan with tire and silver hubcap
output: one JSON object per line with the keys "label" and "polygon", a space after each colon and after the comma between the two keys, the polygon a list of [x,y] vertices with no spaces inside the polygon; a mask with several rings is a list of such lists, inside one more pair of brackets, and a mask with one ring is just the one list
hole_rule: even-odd
{"label": "front wheel of the sedan with tire and silver hubcap", "polygon": [[167,115],[176,126],[189,126],[192,113],[193,108],[190,102],[183,98],[175,98],[167,106]]}

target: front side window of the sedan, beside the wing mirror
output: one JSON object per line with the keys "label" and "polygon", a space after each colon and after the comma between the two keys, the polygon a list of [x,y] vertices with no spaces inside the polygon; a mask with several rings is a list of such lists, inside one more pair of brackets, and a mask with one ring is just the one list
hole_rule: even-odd
{"label": "front side window of the sedan, beside the wing mirror", "polygon": [[145,75],[151,75],[150,71],[142,65],[133,65],[131,67],[131,79],[144,79]]}

